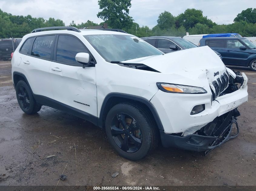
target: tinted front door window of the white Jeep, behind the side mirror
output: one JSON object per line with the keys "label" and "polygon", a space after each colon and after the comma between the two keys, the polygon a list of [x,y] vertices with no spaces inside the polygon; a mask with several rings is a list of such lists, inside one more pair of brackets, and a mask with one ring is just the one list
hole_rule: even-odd
{"label": "tinted front door window of the white Jeep, behind the side mirror", "polygon": [[77,53],[88,53],[88,51],[75,37],[60,35],[57,45],[56,61],[77,65],[78,63],[75,61],[75,55]]}

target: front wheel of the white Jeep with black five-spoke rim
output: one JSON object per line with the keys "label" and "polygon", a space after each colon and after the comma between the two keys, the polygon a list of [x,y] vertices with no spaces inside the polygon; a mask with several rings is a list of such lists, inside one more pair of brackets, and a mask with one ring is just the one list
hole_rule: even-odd
{"label": "front wheel of the white Jeep with black five-spoke rim", "polygon": [[110,144],[129,160],[144,158],[158,143],[154,123],[147,112],[129,103],[112,107],[105,127]]}

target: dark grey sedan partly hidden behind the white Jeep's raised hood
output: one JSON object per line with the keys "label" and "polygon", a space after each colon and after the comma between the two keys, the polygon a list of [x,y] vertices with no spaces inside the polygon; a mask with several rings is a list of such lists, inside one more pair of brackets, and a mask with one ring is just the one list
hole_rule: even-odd
{"label": "dark grey sedan partly hidden behind the white Jeep's raised hood", "polygon": [[[147,43],[151,44],[152,46],[155,46],[159,50],[161,50],[163,53],[172,53],[177,50],[184,50],[189,48],[196,48],[195,44],[191,43],[188,40],[185,40],[181,37],[143,37],[141,38],[145,40]],[[214,51],[220,58],[221,55]]]}

